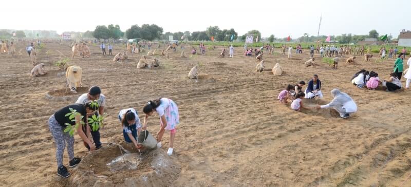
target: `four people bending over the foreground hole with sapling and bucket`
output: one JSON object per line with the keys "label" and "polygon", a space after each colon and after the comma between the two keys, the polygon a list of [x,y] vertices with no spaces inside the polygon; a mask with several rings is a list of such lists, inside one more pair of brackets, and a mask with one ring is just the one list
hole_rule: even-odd
{"label": "four people bending over the foreground hole with sapling and bucket", "polygon": [[[79,134],[85,147],[89,151],[94,151],[101,148],[99,129],[90,124],[90,118],[104,114],[104,106],[106,103],[105,96],[101,93],[98,86],[90,87],[87,94],[79,97],[76,103],[69,104],[55,111],[50,116],[48,123],[51,135],[56,144],[56,158],[58,164],[57,174],[63,178],[70,176],[67,167],[63,165],[63,153],[67,144],[67,153],[69,157],[69,167],[74,167],[80,163],[81,159],[74,157],[74,137],[69,133],[70,128],[74,129]],[[144,120],[141,125],[137,110],[134,108],[122,109],[119,112],[118,118],[123,127],[124,140],[133,143],[137,148],[141,148],[141,142],[138,142],[138,136],[142,129],[147,128],[148,117],[157,113],[160,117],[160,130],[157,133],[157,147],[161,147],[161,140],[165,130],[170,131],[170,147],[167,154],[173,154],[173,143],[176,135],[176,126],[179,124],[179,114],[177,104],[171,99],[160,98],[153,101],[148,101],[143,107]]]}

